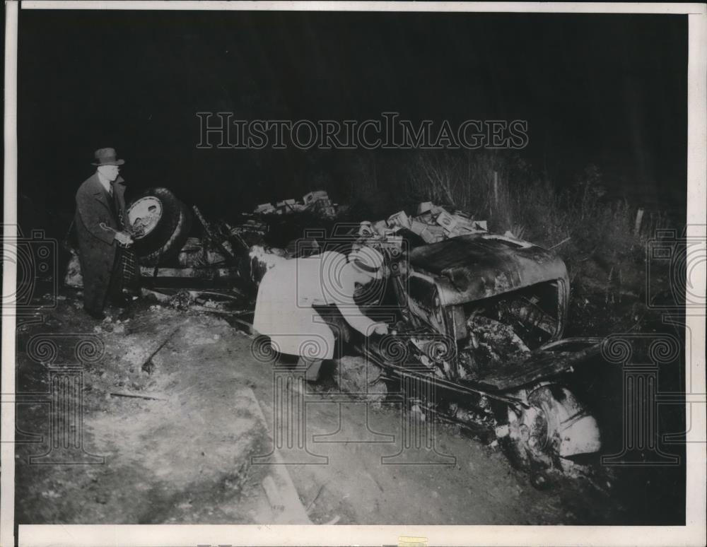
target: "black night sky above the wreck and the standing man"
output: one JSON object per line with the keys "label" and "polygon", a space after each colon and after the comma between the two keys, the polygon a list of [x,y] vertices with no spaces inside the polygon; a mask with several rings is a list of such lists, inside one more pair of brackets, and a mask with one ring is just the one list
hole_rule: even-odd
{"label": "black night sky above the wreck and the standing man", "polygon": [[686,16],[21,11],[19,35],[18,183],[39,208],[73,209],[99,146],[134,189],[207,207],[305,176],[292,152],[197,150],[200,110],[527,119],[523,155],[560,183],[595,163],[617,194],[685,199]]}

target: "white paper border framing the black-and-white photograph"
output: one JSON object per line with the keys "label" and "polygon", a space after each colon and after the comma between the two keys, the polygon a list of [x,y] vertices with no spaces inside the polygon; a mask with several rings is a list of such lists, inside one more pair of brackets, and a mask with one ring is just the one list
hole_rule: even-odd
{"label": "white paper border framing the black-and-white photograph", "polygon": [[[17,224],[17,45],[18,9],[199,10],[199,11],[416,11],[522,13],[662,13],[686,14],[689,28],[688,62],[688,237],[706,238],[707,203],[707,6],[705,4],[629,4],[573,2],[334,2],[334,1],[53,1],[27,0],[21,6],[6,1],[5,117],[4,117],[4,236],[14,237]],[[4,251],[5,252],[5,251]],[[16,264],[3,261],[3,293],[14,292]],[[705,292],[703,275],[692,277]],[[693,385],[705,385],[705,310],[687,310],[686,336],[691,332],[696,360],[690,363]],[[689,313],[693,313],[690,315]],[[689,343],[686,340],[686,343]],[[15,317],[2,317],[2,402],[13,401],[15,385]],[[686,386],[686,393],[690,387]],[[398,545],[406,538],[426,545],[704,545],[706,543],[706,450],[696,442],[706,429],[705,413],[693,413],[687,433],[686,525],[666,527],[591,526],[228,526],[228,525],[21,525],[14,515],[13,404],[1,413],[0,546],[177,546],[177,545]],[[17,536],[16,536],[17,534]]]}

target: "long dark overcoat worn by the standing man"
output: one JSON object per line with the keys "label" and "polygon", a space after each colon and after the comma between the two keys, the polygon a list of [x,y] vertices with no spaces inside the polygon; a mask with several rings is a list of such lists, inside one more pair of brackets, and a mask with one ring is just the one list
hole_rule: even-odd
{"label": "long dark overcoat worn by the standing man", "polygon": [[[98,172],[88,177],[76,192],[76,236],[78,257],[83,275],[83,305],[88,310],[103,310],[115,265],[117,242],[113,230],[123,229],[125,183],[118,176],[113,184],[115,207],[111,197],[98,180]],[[114,213],[119,212],[120,218]],[[112,228],[101,228],[101,224]]]}

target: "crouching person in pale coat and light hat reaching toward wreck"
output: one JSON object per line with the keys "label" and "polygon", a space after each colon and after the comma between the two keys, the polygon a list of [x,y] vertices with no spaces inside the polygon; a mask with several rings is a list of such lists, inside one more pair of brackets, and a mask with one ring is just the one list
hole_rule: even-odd
{"label": "crouching person in pale coat and light hat reaching toward wreck", "polygon": [[387,325],[366,317],[354,302],[357,286],[382,277],[380,252],[363,247],[346,255],[323,252],[281,261],[262,278],[253,327],[270,337],[275,351],[298,355],[305,379],[319,379],[322,363],[334,357],[334,333],[312,306],[335,305],[364,336],[387,334]]}

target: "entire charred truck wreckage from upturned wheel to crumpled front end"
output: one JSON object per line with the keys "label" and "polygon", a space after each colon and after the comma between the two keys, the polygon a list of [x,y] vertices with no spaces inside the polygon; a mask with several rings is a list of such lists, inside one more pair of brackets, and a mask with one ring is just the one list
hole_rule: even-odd
{"label": "entire charred truck wreckage from upturned wheel to crumpled front end", "polygon": [[[143,295],[201,304],[257,334],[243,302],[252,307],[267,269],[325,249],[371,247],[385,258],[385,274],[356,303],[389,334],[366,339],[335,306],[315,307],[334,331],[340,369],[373,370],[369,386],[379,394],[404,378],[428,386],[412,394],[419,408],[498,440],[525,469],[561,470],[600,449],[597,421],[571,380],[600,353],[601,339],[563,338],[570,285],[554,252],[431,202],[413,217],[400,211],[375,223],[346,222],[347,213],[326,192],[310,192],[235,223],[209,223],[199,208],[154,188],[128,207],[137,264],[126,267],[141,270]],[[202,237],[189,237],[192,225]],[[75,253],[65,283],[81,286]],[[185,290],[195,286],[202,290]],[[228,309],[234,294],[245,309]]]}

